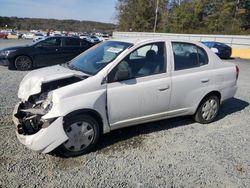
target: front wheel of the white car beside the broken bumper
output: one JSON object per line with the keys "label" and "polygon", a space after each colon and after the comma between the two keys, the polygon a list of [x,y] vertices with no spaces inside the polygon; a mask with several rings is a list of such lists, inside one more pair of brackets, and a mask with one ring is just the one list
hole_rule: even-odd
{"label": "front wheel of the white car beside the broken bumper", "polygon": [[[69,139],[56,149],[56,153],[63,157],[75,157],[90,152],[100,138],[100,125],[92,116],[87,114],[66,118],[63,128]],[[85,135],[87,134],[85,128],[87,132],[93,130],[93,135]],[[89,143],[87,144],[87,142]],[[79,145],[80,147],[77,148]]]}

